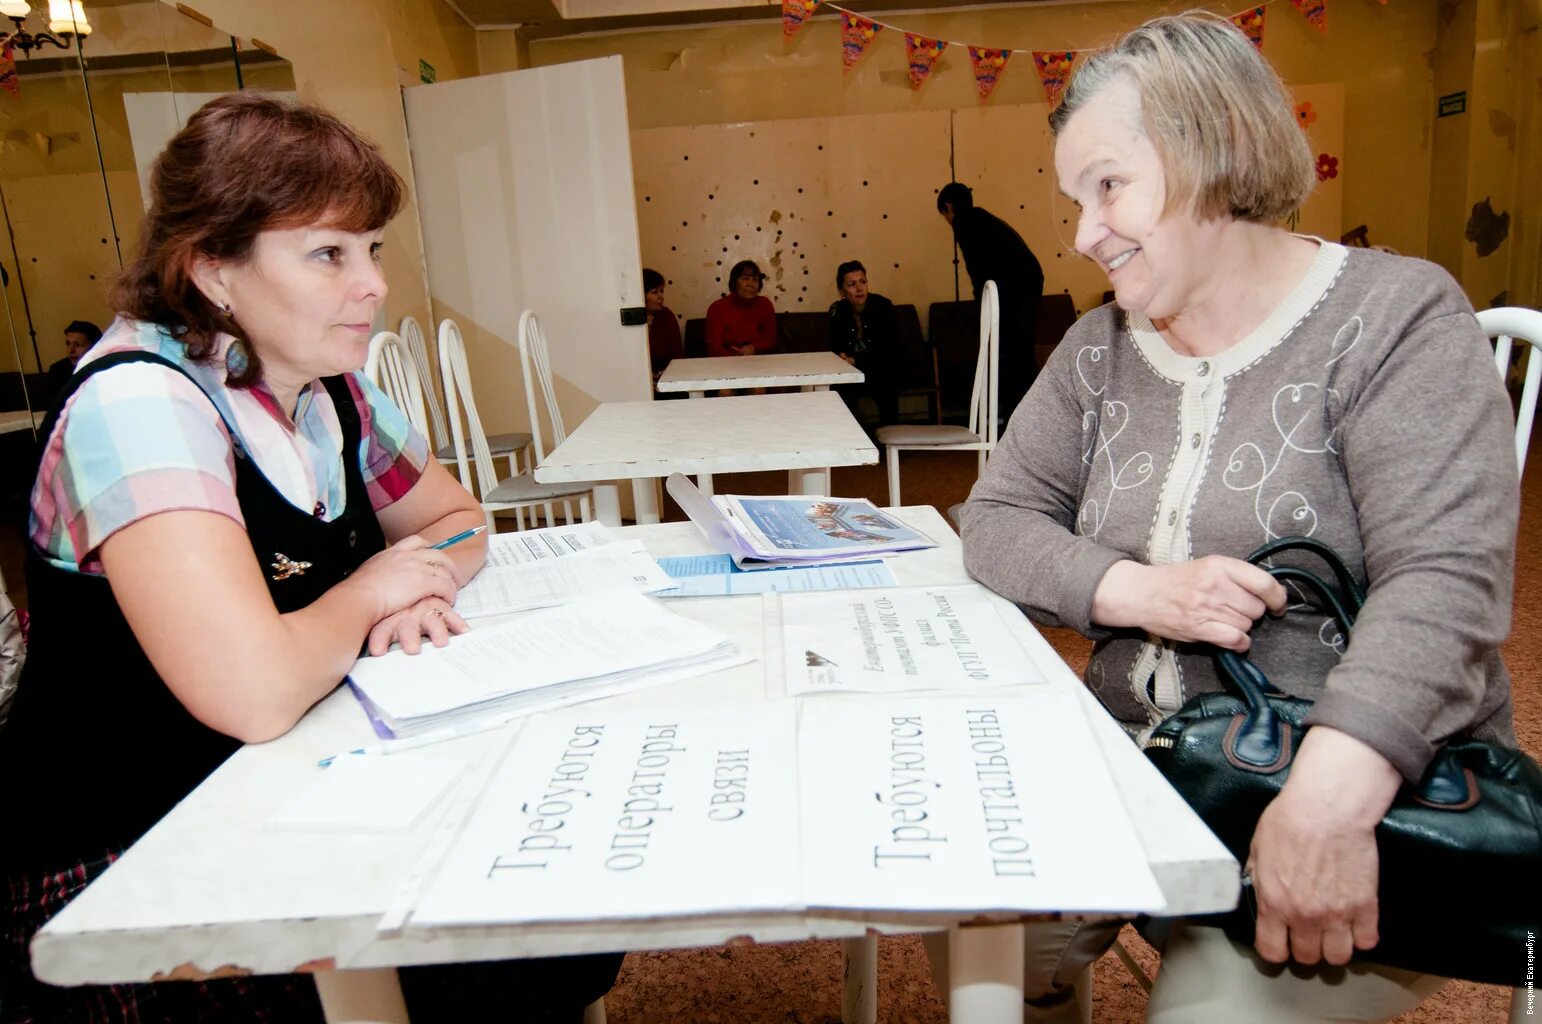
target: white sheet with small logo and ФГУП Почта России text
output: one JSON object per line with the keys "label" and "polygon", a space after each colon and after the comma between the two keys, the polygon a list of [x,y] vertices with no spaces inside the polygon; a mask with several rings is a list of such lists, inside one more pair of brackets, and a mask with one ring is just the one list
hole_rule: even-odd
{"label": "white sheet with small logo and \u0424\u0413\u0423\u041f \u041f\u043e\u0447\u0442\u0430 \u0420\u043e\u0441\u0441\u0438\u0438 text", "polygon": [[783,594],[788,694],[988,689],[1042,683],[973,584]]}

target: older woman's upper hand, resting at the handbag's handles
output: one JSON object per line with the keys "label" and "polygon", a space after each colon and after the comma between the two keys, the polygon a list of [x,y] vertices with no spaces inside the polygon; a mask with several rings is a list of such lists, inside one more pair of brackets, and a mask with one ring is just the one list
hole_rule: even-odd
{"label": "older woman's upper hand, resting at the handbag's handles", "polygon": [[1092,595],[1092,620],[1246,651],[1254,621],[1264,611],[1281,614],[1284,605],[1280,581],[1241,558],[1206,555],[1172,566],[1116,561]]}

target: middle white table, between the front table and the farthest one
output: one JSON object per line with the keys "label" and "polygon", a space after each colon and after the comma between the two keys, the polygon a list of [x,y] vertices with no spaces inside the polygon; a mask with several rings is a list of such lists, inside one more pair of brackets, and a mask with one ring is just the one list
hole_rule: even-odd
{"label": "middle white table, between the front table and the farthest one", "polygon": [[[749,359],[751,356],[742,356]],[[839,395],[734,395],[694,403],[604,403],[567,435],[535,480],[631,480],[638,524],[658,521],[654,480],[786,469],[790,493],[830,493],[831,466],[873,466],[877,449]],[[595,489],[595,518],[620,526],[615,487]]]}

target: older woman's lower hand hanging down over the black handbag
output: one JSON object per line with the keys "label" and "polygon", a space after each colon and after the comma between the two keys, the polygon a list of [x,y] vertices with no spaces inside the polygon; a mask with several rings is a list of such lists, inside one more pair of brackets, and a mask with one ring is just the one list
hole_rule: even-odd
{"label": "older woman's lower hand hanging down over the black handbag", "polygon": [[1346,964],[1380,941],[1375,825],[1402,777],[1360,740],[1314,726],[1254,830],[1254,947],[1271,964]]}

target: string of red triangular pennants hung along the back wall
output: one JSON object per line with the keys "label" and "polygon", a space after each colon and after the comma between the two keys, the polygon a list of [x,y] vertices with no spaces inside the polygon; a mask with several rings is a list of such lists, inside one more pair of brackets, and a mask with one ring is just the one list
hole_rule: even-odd
{"label": "string of red triangular pennants hung along the back wall", "polygon": [[[1258,49],[1263,49],[1264,12],[1274,2],[1264,0],[1257,6],[1229,15],[1232,25],[1241,29],[1243,35]],[[1386,0],[1380,0],[1380,3],[1385,5]],[[1291,5],[1306,17],[1306,22],[1312,28],[1325,35],[1328,34],[1328,0],[1291,0]],[[862,59],[862,54],[867,52],[882,29],[896,28],[887,22],[877,22],[848,11],[828,0],[782,0],[783,39],[791,39],[794,32],[803,28],[819,6],[840,12],[840,62],[845,71],[856,66],[857,60]],[[916,32],[905,32],[904,29],[899,31],[905,35],[905,59],[910,65],[910,86],[913,89],[919,89],[931,77],[938,57],[948,46],[965,46],[968,49],[970,66],[975,71],[975,82],[979,86],[981,99],[988,99],[995,91],[1001,82],[1001,76],[1007,71],[1007,60],[1012,54],[1032,54],[1033,66],[1038,69],[1039,82],[1044,85],[1044,97],[1052,106],[1059,102],[1061,93],[1070,83],[1070,72],[1078,54],[1098,49],[1092,46],[1081,49],[996,49],[992,46],[973,46],[951,39],[930,39]]]}

